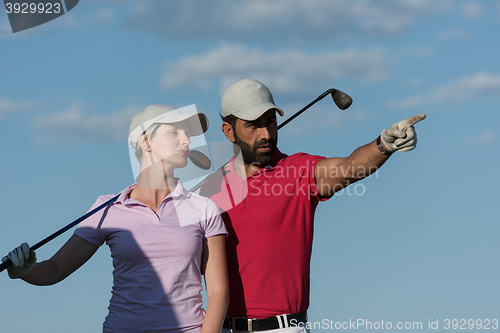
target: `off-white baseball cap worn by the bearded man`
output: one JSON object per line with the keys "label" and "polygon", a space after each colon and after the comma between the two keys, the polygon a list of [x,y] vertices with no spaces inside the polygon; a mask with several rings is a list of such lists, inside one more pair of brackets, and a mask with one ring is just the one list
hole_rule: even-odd
{"label": "off-white baseball cap worn by the bearded man", "polygon": [[283,110],[274,105],[269,89],[253,79],[244,79],[229,87],[222,96],[221,106],[223,117],[232,114],[240,119],[252,121],[271,109],[275,109],[283,117]]}

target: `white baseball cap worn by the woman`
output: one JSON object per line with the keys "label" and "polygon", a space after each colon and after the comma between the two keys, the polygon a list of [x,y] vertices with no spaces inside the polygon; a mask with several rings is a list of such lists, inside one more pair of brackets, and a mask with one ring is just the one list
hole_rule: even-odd
{"label": "white baseball cap worn by the woman", "polygon": [[171,105],[148,105],[136,114],[130,123],[128,139],[135,143],[139,137],[153,124],[173,124],[187,121],[192,136],[205,133],[208,129],[208,119],[203,113],[196,112],[194,104],[183,108]]}

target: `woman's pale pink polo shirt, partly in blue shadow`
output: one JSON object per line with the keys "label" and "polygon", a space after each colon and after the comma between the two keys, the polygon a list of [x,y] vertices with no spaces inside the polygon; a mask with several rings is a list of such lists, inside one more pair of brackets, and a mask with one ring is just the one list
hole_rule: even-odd
{"label": "woman's pale pink polo shirt, partly in blue shadow", "polygon": [[[203,239],[227,233],[219,209],[179,181],[155,213],[129,198],[134,187],[75,230],[94,245],[106,242],[111,250],[113,289],[104,332],[198,332],[205,313]],[[113,196],[99,197],[92,208]]]}

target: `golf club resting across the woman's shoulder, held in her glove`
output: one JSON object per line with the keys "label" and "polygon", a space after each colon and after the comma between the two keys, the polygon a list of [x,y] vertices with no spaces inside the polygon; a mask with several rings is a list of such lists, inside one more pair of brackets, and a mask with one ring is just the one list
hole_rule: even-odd
{"label": "golf club resting across the woman's shoulder, held in her glove", "polygon": [[[210,159],[205,154],[203,154],[202,152],[200,152],[198,150],[191,150],[190,154],[189,154],[189,159],[191,160],[191,162],[193,162],[194,165],[196,165],[197,167],[199,167],[200,169],[203,169],[203,170],[209,170],[210,167],[211,167],[211,164],[212,164],[211,161],[210,161]],[[73,228],[78,223],[80,223],[83,220],[87,219],[88,217],[94,215],[95,213],[97,213],[98,211],[100,211],[101,209],[103,209],[104,207],[109,206],[110,204],[112,204],[113,202],[115,202],[116,199],[118,199],[119,196],[120,195],[118,194],[115,197],[113,197],[110,200],[108,200],[105,203],[103,203],[102,205],[100,205],[99,207],[94,208],[93,210],[91,210],[87,214],[79,217],[78,219],[74,220],[73,222],[71,222],[67,226],[59,229],[58,231],[54,232],[52,235],[46,237],[42,241],[40,241],[40,242],[36,243],[35,245],[31,246],[30,249],[36,250],[36,249],[42,247],[43,245],[47,244],[48,242],[50,242],[51,240],[53,240],[57,236],[65,233],[69,229]],[[0,272],[3,271],[3,270],[5,270],[6,268],[9,268],[11,265],[12,265],[12,262],[10,260],[8,260],[8,261],[6,261],[4,263],[0,263]]]}

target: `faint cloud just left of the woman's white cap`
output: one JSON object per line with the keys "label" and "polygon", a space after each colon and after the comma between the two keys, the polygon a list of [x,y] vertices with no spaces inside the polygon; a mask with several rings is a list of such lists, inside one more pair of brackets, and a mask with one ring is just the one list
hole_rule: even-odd
{"label": "faint cloud just left of the woman's white cap", "polygon": [[39,115],[34,122],[45,140],[124,141],[138,107],[127,107],[112,114],[88,114],[79,105],[57,114]]}

